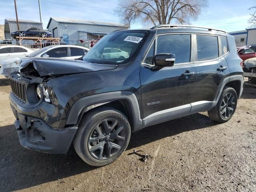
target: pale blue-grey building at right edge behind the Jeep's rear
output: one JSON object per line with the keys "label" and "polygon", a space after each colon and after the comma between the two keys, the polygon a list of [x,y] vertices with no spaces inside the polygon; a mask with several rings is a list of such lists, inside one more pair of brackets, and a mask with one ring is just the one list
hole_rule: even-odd
{"label": "pale blue-grey building at right edge behind the Jeep's rear", "polygon": [[256,28],[229,32],[235,37],[236,46],[256,45]]}

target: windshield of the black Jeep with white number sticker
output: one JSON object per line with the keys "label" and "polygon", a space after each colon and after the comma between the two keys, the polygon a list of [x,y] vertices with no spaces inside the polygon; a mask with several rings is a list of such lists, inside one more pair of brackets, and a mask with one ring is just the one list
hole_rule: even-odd
{"label": "windshield of the black Jeep with white number sticker", "polygon": [[91,63],[117,64],[132,58],[144,41],[146,32],[116,32],[104,36],[84,56],[83,60]]}

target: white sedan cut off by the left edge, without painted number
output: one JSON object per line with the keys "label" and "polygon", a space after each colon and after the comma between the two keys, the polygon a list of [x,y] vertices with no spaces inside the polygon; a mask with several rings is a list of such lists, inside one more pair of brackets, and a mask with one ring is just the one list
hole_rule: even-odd
{"label": "white sedan cut off by the left edge, without painted number", "polygon": [[0,46],[0,61],[15,57],[25,57],[32,52],[34,51],[18,45]]}

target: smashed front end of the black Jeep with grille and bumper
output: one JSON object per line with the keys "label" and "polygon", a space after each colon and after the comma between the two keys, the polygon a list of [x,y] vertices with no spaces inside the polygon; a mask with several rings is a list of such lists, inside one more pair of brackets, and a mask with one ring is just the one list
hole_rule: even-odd
{"label": "smashed front end of the black Jeep with grille and bumper", "polygon": [[77,126],[65,125],[67,112],[52,103],[55,99],[47,82],[54,76],[41,76],[33,60],[19,65],[20,72],[9,74],[10,106],[19,141],[28,149],[63,154],[76,134]]}

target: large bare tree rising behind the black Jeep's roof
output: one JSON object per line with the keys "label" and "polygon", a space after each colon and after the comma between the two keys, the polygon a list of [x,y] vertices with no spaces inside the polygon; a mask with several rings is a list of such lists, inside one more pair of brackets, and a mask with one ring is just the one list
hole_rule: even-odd
{"label": "large bare tree rising behind the black Jeep's roof", "polygon": [[116,12],[126,25],[189,24],[207,6],[208,0],[119,0]]}

